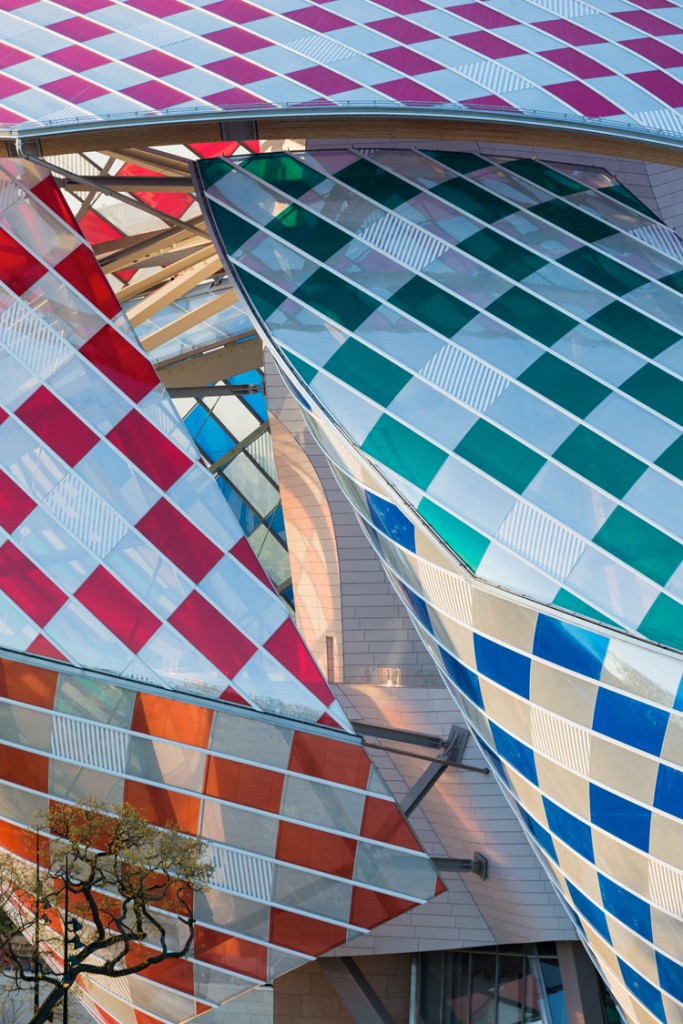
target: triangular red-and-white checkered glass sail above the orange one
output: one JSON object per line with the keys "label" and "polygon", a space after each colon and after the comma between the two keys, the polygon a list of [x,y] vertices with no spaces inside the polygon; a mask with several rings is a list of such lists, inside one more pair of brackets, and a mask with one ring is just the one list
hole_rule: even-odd
{"label": "triangular red-and-white checkered glass sail above the orange one", "polygon": [[0,637],[348,729],[54,182],[0,167]]}

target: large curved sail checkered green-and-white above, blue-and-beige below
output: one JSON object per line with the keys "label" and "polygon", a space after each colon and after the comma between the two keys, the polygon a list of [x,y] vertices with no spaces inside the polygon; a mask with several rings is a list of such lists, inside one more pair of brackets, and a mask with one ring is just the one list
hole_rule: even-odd
{"label": "large curved sail checkered green-and-white above, blue-and-beige below", "polygon": [[285,378],[627,1019],[674,1024],[681,243],[581,168],[326,151],[201,174]]}

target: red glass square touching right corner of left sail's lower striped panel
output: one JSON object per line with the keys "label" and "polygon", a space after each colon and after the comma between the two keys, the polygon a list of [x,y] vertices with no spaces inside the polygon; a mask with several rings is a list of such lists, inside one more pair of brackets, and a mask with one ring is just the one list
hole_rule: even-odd
{"label": "red glass square touching right corner of left sail's lower striped panel", "polygon": [[165,498],[152,506],[137,528],[194,583],[203,580],[223,557],[220,548]]}

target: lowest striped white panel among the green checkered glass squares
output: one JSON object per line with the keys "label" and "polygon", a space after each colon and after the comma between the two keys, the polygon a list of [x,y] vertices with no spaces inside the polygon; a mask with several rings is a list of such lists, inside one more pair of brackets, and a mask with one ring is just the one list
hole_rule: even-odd
{"label": "lowest striped white panel among the green checkered glass squares", "polygon": [[586,549],[583,538],[522,501],[503,520],[496,540],[556,580],[566,579]]}

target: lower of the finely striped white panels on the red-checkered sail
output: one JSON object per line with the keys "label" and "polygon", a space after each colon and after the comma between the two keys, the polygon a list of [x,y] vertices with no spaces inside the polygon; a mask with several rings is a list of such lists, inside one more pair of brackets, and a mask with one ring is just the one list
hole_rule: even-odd
{"label": "lower of the finely striped white panels on the red-checkered sail", "polygon": [[45,508],[98,558],[104,558],[128,528],[125,519],[75,473],[52,488]]}

